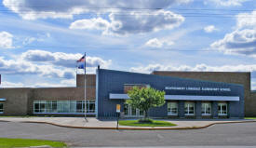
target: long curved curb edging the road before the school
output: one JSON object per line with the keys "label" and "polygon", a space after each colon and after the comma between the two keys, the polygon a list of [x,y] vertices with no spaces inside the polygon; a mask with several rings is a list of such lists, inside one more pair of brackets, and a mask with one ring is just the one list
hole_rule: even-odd
{"label": "long curved curb edging the road before the school", "polygon": [[[12,122],[7,120],[0,120],[0,122]],[[52,126],[57,126],[61,128],[84,128],[84,129],[122,129],[122,130],[182,130],[182,129],[202,129],[209,128],[210,126],[218,125],[218,124],[235,124],[235,123],[251,123],[256,122],[256,120],[251,121],[234,121],[234,122],[217,122],[211,123],[202,127],[183,127],[183,128],[113,128],[113,127],[74,127],[74,126],[64,126],[59,124],[54,124],[50,122],[41,122],[41,121],[21,121],[20,123],[36,123],[36,124],[48,124]]]}

